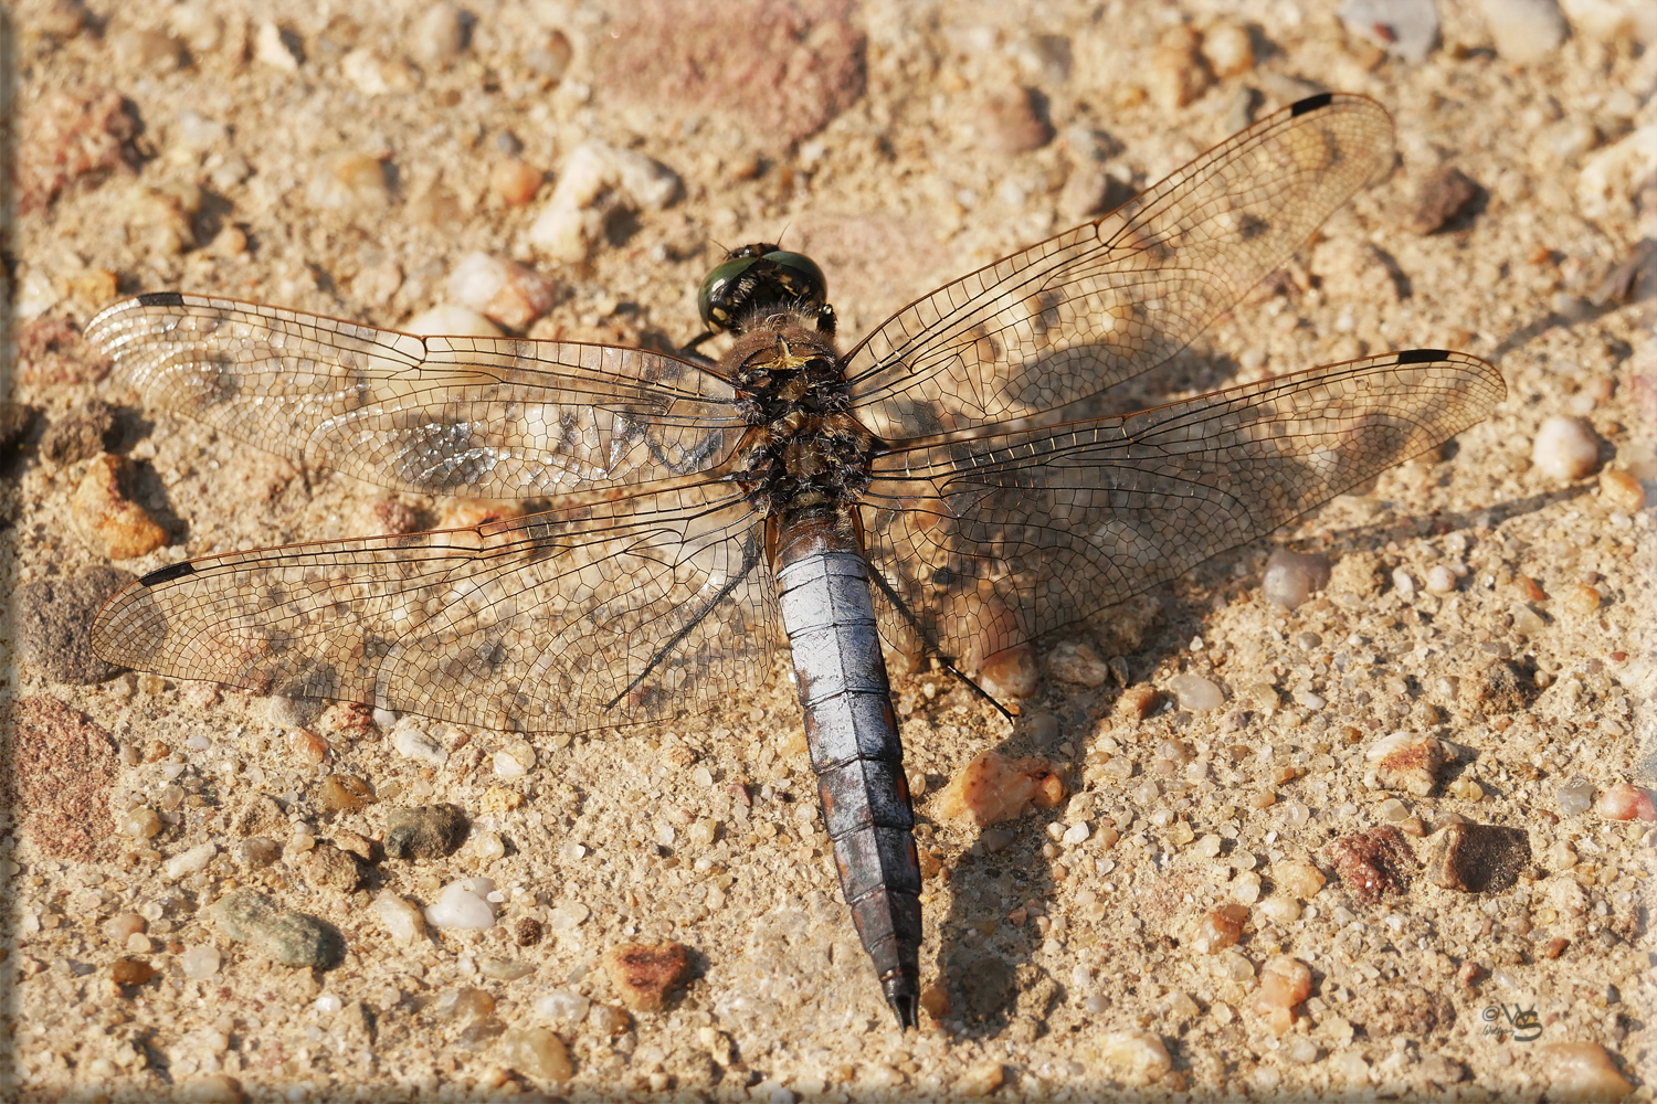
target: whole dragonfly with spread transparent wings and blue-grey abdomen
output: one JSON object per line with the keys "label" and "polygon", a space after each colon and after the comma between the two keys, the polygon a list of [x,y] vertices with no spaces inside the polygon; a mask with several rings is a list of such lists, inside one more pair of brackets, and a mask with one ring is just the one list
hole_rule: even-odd
{"label": "whole dragonfly with spread transparent wings and blue-grey abdomen", "polygon": [[154,407],[300,465],[524,500],[471,528],[209,554],[98,614],[129,669],[522,733],[716,713],[785,641],[840,887],[900,1028],[921,874],[882,642],[971,680],[1481,420],[1500,372],[1408,349],[1128,414],[1394,161],[1301,99],[1115,212],[842,351],[822,270],[754,243],[701,286],[719,358],[411,336],[157,291],[88,336]]}

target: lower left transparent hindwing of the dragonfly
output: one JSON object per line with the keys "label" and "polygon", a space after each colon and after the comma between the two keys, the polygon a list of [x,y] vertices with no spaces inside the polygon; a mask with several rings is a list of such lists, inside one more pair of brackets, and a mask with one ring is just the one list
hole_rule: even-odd
{"label": "lower left transparent hindwing of the dragonfly", "polygon": [[766,682],[764,525],[729,487],[174,564],[98,614],[109,662],[524,732],[706,712]]}

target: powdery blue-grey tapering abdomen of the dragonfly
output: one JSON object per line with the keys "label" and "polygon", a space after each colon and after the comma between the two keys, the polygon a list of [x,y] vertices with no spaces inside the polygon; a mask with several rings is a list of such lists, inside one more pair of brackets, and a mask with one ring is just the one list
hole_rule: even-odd
{"label": "powdery blue-grey tapering abdomen of the dragonfly", "polygon": [[903,748],[857,538],[782,535],[777,593],[840,889],[900,1025],[920,1001],[921,872]]}

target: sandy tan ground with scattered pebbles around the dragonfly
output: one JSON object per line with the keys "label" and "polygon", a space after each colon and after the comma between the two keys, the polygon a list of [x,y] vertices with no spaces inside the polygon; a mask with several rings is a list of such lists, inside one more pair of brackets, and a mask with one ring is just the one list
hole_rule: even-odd
{"label": "sandy tan ground with scattered pebbles around the dragonfly", "polygon": [[[542,742],[527,775],[504,776],[500,733],[428,725],[428,761],[350,710],[76,667],[75,632],[58,667],[8,652],[7,1092],[1650,1099],[1650,824],[1582,801],[1654,783],[1654,516],[1634,502],[1657,477],[1657,354],[1639,286],[1617,298],[1604,280],[1652,233],[1640,184],[1657,154],[1596,157],[1657,124],[1657,51],[1579,22],[1514,60],[1526,43],[1498,43],[1485,18],[1500,5],[1438,7],[1442,45],[1408,61],[1314,0],[800,5],[794,25],[766,2],[714,22],[694,5],[479,0],[459,36],[404,3],[17,5],[8,93],[33,121],[10,136],[3,382],[38,414],[0,482],[10,589],[109,563],[71,518],[101,449],[133,460],[129,493],[166,528],[116,563],[133,573],[388,516],[371,487],[101,379],[75,334],[118,293],[398,326],[481,250],[555,281],[535,336],[678,344],[714,243],[782,235],[827,270],[855,338],[1319,89],[1387,106],[1397,170],[1148,397],[1410,346],[1493,361],[1510,397],[1442,455],[1062,637],[1120,655],[1127,692],[1047,677],[1014,727],[940,674],[896,680],[936,986],[906,1038],[840,902],[782,657],[722,715]],[[1503,13],[1518,26],[1503,33],[1523,38],[1529,10]],[[1168,46],[1180,23],[1211,61]],[[681,189],[587,207],[605,220],[572,260],[532,225],[587,141],[655,159]],[[507,159],[547,174],[525,204],[492,177]],[[1594,164],[1611,166],[1604,189],[1582,185]],[[1420,189],[1445,167],[1476,192],[1420,233]],[[113,425],[86,430],[94,399]],[[1596,472],[1634,480],[1534,468],[1556,414],[1591,424]],[[83,429],[46,449],[60,424]],[[1261,598],[1276,545],[1336,561],[1294,611]],[[1427,589],[1435,566],[1443,593]],[[1118,703],[1185,672],[1225,705],[1142,718]],[[1369,751],[1400,730],[1448,748],[1430,793],[1375,776]],[[1074,796],[983,833],[941,819],[938,791],[986,748],[1047,756]],[[330,808],[340,775],[378,801]],[[421,803],[461,806],[471,839],[381,861],[386,811]],[[1337,877],[1337,838],[1395,824],[1428,857],[1458,818],[1523,833],[1511,884],[1468,892],[1422,871],[1365,900]],[[159,831],[128,831],[144,823]],[[708,823],[713,839],[693,831]],[[265,864],[257,838],[282,854]],[[374,861],[340,857],[355,846]],[[1301,861],[1327,877],[1304,902],[1284,866]],[[370,909],[381,890],[429,905],[472,876],[495,886],[495,927],[404,943]],[[235,887],[335,925],[343,962],[272,965],[229,940],[205,909]],[[1203,917],[1225,905],[1241,938],[1203,953]],[[519,945],[525,920],[543,935]],[[601,957],[630,938],[693,952],[664,1011],[611,1011]],[[1258,1008],[1276,955],[1311,973],[1292,1025]]]}

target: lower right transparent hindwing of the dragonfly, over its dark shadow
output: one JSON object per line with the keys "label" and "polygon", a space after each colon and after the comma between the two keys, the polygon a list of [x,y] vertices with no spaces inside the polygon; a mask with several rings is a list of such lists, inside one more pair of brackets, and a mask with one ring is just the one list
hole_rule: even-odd
{"label": "lower right transparent hindwing of the dragonfly, over its dark shadow", "polygon": [[1417,349],[1127,417],[896,449],[863,502],[868,558],[973,664],[1254,540],[1481,420],[1501,374]]}

